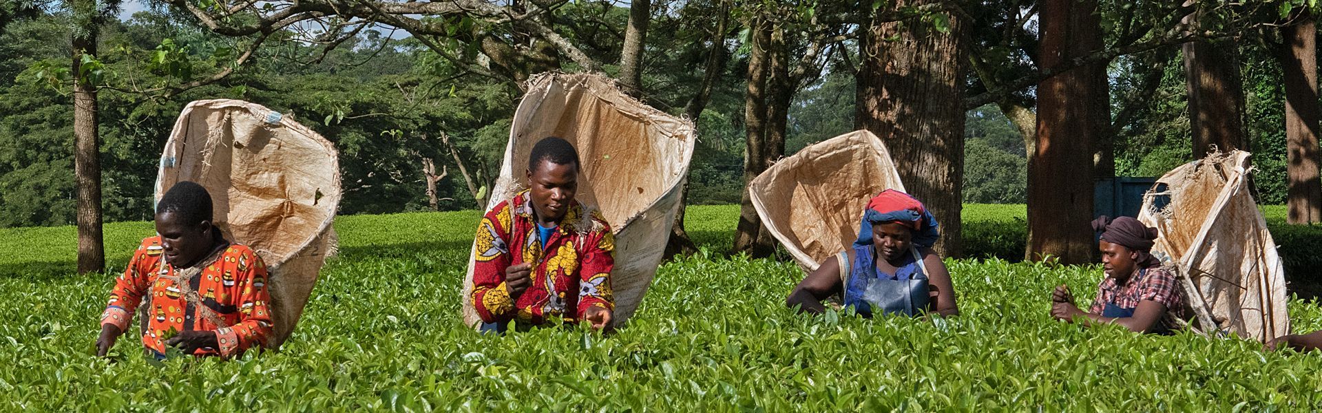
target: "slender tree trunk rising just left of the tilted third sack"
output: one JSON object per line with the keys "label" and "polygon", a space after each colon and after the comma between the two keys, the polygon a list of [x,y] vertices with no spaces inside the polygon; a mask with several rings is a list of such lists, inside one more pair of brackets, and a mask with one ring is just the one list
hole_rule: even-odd
{"label": "slender tree trunk rising just left of the tilted third sack", "polygon": [[748,90],[744,97],[744,188],[739,205],[739,224],[735,226],[734,252],[747,252],[754,257],[771,255],[760,242],[761,218],[748,196],[748,183],[767,169],[767,87],[771,66],[772,23],[754,16],[750,23],[752,49],[748,54]]}

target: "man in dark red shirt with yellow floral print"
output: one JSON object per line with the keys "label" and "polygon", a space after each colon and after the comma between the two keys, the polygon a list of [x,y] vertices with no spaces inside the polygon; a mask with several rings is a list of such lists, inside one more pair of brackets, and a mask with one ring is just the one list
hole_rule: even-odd
{"label": "man in dark red shirt with yellow floral print", "polygon": [[578,154],[561,138],[542,139],[526,173],[529,189],[497,204],[477,226],[469,299],[483,330],[557,316],[608,327],[615,236],[599,212],[574,200]]}

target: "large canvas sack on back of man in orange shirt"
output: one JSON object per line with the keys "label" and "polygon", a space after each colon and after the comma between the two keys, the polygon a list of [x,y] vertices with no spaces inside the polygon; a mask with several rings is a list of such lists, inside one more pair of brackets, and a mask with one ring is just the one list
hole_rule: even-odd
{"label": "large canvas sack on back of man in orange shirt", "polygon": [[206,187],[214,224],[266,262],[275,324],[266,347],[279,348],[336,248],[330,224],[341,193],[334,147],[264,106],[197,101],[184,107],[165,143],[156,200],[181,180]]}

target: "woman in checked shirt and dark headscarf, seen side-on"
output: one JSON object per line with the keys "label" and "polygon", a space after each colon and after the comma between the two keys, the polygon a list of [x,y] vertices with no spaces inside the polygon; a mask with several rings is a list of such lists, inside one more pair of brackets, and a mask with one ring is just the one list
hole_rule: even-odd
{"label": "woman in checked shirt and dark headscarf, seen side-on", "polygon": [[1130,217],[1101,216],[1097,249],[1107,277],[1087,312],[1075,306],[1064,285],[1051,295],[1051,316],[1084,326],[1120,324],[1134,332],[1170,334],[1183,319],[1185,298],[1175,274],[1150,254],[1157,229]]}

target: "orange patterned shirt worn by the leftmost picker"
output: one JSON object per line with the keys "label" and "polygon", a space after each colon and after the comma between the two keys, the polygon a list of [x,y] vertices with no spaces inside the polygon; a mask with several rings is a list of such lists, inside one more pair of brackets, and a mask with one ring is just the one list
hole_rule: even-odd
{"label": "orange patterned shirt worn by the leftmost picker", "polygon": [[[188,302],[176,278],[175,267],[163,265],[160,237],[143,240],[124,269],[115,278],[110,303],[102,312],[102,324],[114,324],[128,331],[134,311],[147,303],[151,315],[143,334],[143,345],[157,353],[165,352],[165,335],[175,331],[215,331],[219,348],[202,348],[194,355],[233,356],[243,349],[260,345],[271,334],[271,294],[266,287],[266,265],[245,245],[231,244],[214,262],[189,283],[201,303],[214,311],[225,324],[218,328],[201,308]],[[148,295],[149,294],[149,295]]]}

